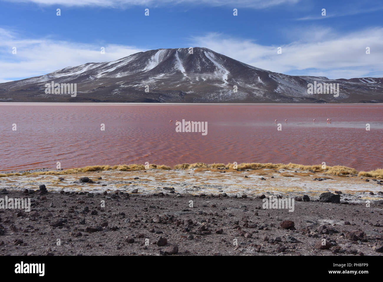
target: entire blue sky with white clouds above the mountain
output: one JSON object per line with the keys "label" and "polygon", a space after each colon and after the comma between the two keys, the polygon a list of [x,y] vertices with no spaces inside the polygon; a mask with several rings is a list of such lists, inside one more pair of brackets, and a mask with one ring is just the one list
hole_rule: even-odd
{"label": "entire blue sky with white clouds above the mountain", "polygon": [[383,77],[383,1],[0,0],[0,15],[0,82],[189,46],[290,75]]}

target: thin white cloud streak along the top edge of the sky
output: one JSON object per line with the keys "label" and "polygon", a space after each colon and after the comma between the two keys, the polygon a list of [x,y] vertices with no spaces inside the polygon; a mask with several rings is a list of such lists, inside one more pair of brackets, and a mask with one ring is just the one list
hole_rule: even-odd
{"label": "thin white cloud streak along the top edge of the sky", "polygon": [[295,4],[300,0],[8,0],[10,2],[23,2],[23,3],[36,3],[39,5],[63,5],[63,6],[98,6],[108,8],[125,8],[129,6],[147,6],[147,7],[159,7],[169,5],[209,5],[213,7],[217,6],[233,6],[244,8],[267,8],[284,3]]}

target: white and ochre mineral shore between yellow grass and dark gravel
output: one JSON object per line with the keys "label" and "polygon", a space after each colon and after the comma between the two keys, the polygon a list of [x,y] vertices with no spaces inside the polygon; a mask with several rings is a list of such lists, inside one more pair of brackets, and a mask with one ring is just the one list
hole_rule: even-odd
{"label": "white and ochre mineral shore between yellow grass and dark gravel", "polygon": [[[154,166],[151,165],[149,169],[142,168],[142,165],[94,166],[67,171],[0,174],[0,189],[38,190],[40,185],[46,185],[51,192],[102,193],[119,190],[129,193],[137,189],[139,194],[151,194],[162,192],[161,187],[172,187],[174,192],[193,195],[218,192],[233,197],[242,193],[257,197],[264,193],[273,197],[295,198],[306,194],[315,200],[319,199],[321,193],[337,191],[340,199],[347,203],[383,199],[381,178],[345,174],[339,169],[335,171],[336,174],[330,174],[329,171],[291,168],[287,165],[254,169],[232,169],[220,164],[215,164],[215,167],[183,164],[173,169]],[[249,164],[243,166],[248,167]],[[83,178],[88,180],[83,181]]]}

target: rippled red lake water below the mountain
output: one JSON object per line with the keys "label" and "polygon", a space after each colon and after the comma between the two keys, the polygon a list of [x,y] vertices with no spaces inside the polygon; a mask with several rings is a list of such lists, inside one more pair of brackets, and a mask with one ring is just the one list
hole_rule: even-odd
{"label": "rippled red lake water below the mountain", "polygon": [[[0,171],[145,162],[383,167],[383,105],[0,105]],[[313,119],[316,122],[313,122]],[[331,118],[331,124],[326,119]],[[175,131],[207,121],[208,134]],[[282,124],[282,131],[277,130]],[[287,123],[285,123],[287,119]],[[173,120],[169,124],[169,120]],[[12,131],[16,123],[17,130]],[[105,131],[100,124],[105,124]],[[366,123],[370,131],[366,131]]]}

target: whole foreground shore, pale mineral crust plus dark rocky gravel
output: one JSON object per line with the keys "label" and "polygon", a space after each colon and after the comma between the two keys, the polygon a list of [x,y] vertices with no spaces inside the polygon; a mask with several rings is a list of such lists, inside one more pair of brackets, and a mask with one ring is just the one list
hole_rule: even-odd
{"label": "whole foreground shore, pale mineral crust plus dark rocky gravel", "polygon": [[[31,211],[0,208],[0,255],[381,255],[380,181],[225,168],[3,176],[0,201],[30,198]],[[265,208],[269,197],[293,211]]]}

